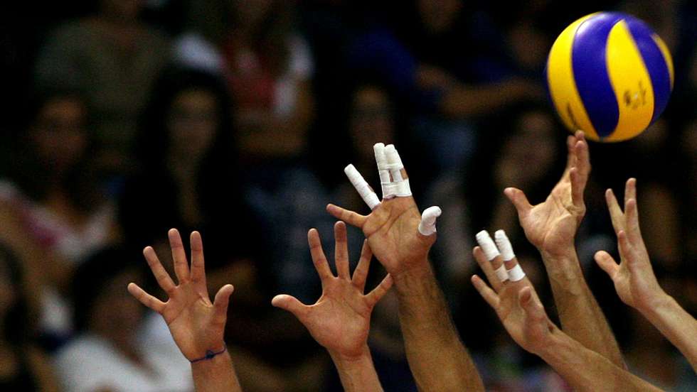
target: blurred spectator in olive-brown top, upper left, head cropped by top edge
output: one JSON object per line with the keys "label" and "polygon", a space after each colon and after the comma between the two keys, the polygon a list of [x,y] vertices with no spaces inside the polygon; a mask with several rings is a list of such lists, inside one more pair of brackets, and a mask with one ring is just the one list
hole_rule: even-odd
{"label": "blurred spectator in olive-brown top, upper left, head cropped by top edge", "polygon": [[94,16],[58,27],[36,62],[41,87],[78,89],[95,109],[100,162],[132,170],[137,120],[169,58],[168,39],[142,23],[139,0],[100,0]]}

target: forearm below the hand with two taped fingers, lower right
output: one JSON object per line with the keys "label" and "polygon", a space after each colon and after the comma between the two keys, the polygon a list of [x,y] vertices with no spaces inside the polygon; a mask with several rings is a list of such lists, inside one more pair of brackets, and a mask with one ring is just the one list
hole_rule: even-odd
{"label": "forearm below the hand with two taped fingers, lower right", "polygon": [[560,330],[538,355],[575,391],[660,391]]}

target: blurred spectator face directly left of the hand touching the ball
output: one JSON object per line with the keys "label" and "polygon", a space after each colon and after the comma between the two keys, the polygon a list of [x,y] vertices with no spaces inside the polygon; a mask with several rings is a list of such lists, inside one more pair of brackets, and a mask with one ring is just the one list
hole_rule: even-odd
{"label": "blurred spectator face directly left of the hand touching the ball", "polygon": [[518,120],[516,134],[506,142],[497,165],[499,183],[524,187],[541,180],[556,156],[554,121],[543,111],[528,111]]}

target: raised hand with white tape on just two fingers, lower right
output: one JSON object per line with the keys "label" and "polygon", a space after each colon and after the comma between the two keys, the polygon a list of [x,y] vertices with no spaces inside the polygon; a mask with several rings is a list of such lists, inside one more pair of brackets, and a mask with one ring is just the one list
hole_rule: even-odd
{"label": "raised hand with white tape on just two fingers, lower right", "polygon": [[491,287],[477,275],[472,276],[474,287],[494,308],[516,343],[528,352],[540,354],[557,327],[547,317],[535,288],[518,265],[506,234],[502,230],[496,232],[496,245],[486,232],[477,234],[477,241],[480,246],[474,248],[474,258]]}

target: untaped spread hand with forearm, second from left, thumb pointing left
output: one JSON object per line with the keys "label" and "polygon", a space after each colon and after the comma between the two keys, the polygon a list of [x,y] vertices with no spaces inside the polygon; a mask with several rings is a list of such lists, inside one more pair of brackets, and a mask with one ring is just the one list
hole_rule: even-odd
{"label": "untaped spread hand with forearm, second from left, thumb pointing left", "polygon": [[368,349],[368,330],[373,307],[392,286],[392,277],[385,276],[375,289],[363,294],[373,257],[367,241],[351,276],[344,222],[334,225],[334,239],[337,276],[329,269],[316,229],[307,233],[312,261],[322,283],[319,300],[304,305],[297,298],[282,294],[273,298],[272,305],[292,312],[316,342],[327,349],[345,391],[383,391]]}

